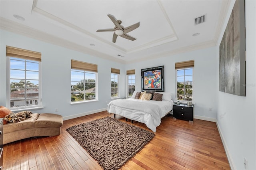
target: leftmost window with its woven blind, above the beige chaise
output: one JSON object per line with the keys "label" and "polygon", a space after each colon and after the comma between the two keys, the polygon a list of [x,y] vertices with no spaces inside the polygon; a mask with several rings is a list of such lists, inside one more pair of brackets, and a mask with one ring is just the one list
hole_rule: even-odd
{"label": "leftmost window with its woven blind, above the beige chaise", "polygon": [[41,53],[6,46],[8,63],[7,106],[24,109],[42,106],[40,93]]}

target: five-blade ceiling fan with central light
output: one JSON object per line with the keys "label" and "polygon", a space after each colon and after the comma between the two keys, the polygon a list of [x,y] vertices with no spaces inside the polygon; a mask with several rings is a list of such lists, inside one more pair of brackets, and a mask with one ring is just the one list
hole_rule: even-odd
{"label": "five-blade ceiling fan with central light", "polygon": [[140,26],[140,22],[124,28],[122,25],[120,25],[122,23],[122,21],[116,20],[116,18],[111,14],[108,14],[108,17],[114,23],[115,28],[114,29],[112,29],[112,28],[100,29],[100,30],[97,30],[96,32],[114,31],[113,40],[112,40],[113,43],[116,42],[117,36],[120,36],[122,38],[126,38],[128,40],[132,40],[132,41],[136,40],[136,38],[134,38],[132,36],[129,36],[127,33],[131,32],[132,30],[135,30],[136,28],[138,28]]}

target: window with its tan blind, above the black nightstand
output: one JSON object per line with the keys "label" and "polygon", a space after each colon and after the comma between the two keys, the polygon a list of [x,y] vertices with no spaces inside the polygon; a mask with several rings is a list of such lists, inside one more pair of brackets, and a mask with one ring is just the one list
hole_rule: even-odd
{"label": "window with its tan blind, above the black nightstand", "polygon": [[175,63],[177,100],[193,100],[193,67],[194,60]]}

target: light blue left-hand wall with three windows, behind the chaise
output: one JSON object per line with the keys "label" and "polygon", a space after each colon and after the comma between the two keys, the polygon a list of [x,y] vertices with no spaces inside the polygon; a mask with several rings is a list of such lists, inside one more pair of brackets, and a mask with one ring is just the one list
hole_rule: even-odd
{"label": "light blue left-hand wall with three windows, behind the chaise", "polygon": [[[63,117],[88,114],[106,109],[111,95],[111,67],[120,69],[120,95],[125,96],[124,64],[90,56],[50,43],[1,30],[0,52],[0,105],[6,106],[6,45],[42,53],[43,109],[32,113],[57,113]],[[71,59],[98,65],[98,100],[70,105]],[[58,112],[55,112],[58,108]]]}

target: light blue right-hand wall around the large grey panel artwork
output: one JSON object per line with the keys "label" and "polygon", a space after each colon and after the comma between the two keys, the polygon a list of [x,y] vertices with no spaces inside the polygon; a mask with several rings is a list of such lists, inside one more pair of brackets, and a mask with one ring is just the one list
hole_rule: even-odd
{"label": "light blue right-hand wall around the large grey panel artwork", "polygon": [[[234,2],[232,2],[232,7]],[[232,7],[230,8],[229,15]],[[226,146],[226,153],[232,169],[242,170],[244,158],[248,160],[248,170],[256,170],[256,1],[245,1],[246,19],[246,97],[218,93],[217,124]],[[229,17],[228,17],[229,18]],[[219,51],[221,38],[216,51]],[[218,53],[218,52],[217,52]],[[219,55],[216,56],[219,61]],[[216,65],[218,67],[218,63]],[[217,79],[217,82],[219,80]]]}

